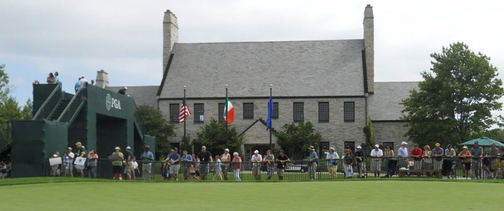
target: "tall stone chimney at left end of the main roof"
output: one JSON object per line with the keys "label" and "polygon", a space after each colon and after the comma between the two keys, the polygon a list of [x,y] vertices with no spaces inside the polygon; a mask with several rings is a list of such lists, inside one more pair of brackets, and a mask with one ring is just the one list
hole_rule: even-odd
{"label": "tall stone chimney at left end of the main roof", "polygon": [[163,72],[168,64],[173,44],[178,42],[177,17],[170,10],[164,12],[163,19]]}

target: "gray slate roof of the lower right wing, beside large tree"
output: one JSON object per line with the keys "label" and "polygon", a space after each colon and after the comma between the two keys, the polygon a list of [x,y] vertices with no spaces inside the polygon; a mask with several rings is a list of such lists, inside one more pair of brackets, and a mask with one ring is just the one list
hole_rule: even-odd
{"label": "gray slate roof of the lower right wing, beside large tree", "polygon": [[374,94],[368,100],[371,120],[400,120],[404,109],[399,103],[418,90],[418,82],[375,82]]}

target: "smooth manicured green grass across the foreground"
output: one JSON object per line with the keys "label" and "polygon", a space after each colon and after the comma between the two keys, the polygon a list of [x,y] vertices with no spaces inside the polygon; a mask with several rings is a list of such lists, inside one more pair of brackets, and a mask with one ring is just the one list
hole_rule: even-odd
{"label": "smooth manicured green grass across the foreground", "polygon": [[[38,183],[38,184],[23,184]],[[502,210],[497,180],[366,179],[317,182],[0,180],[2,210]],[[471,200],[471,198],[477,198]]]}

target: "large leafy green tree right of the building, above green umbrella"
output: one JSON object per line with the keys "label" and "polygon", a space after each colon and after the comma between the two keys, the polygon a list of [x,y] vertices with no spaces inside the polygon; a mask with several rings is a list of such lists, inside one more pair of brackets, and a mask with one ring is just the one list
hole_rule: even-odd
{"label": "large leafy green tree right of the building, above green umbrella", "polygon": [[490,57],[475,53],[457,42],[430,54],[430,72],[422,72],[419,90],[411,91],[402,104],[403,119],[409,122],[406,133],[413,142],[457,144],[481,133],[493,124],[501,125],[502,81]]}

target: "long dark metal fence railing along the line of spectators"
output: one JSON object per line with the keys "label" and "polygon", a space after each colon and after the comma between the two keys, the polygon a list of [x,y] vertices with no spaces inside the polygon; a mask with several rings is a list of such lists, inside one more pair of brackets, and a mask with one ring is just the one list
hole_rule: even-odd
{"label": "long dark metal fence railing along the line of spectators", "polygon": [[[375,177],[400,177],[400,176],[436,176],[433,174],[440,174],[440,178],[453,178],[453,179],[493,179],[502,178],[502,165],[497,165],[504,158],[496,158],[491,160],[488,158],[474,158],[473,164],[462,163],[462,159],[455,158],[442,158],[440,161],[432,159],[431,163],[415,162],[414,158],[364,158],[362,162],[358,162],[355,158],[337,159],[337,160],[319,160],[314,173],[310,173],[310,165],[308,161],[291,161],[284,166],[283,171],[279,171],[277,163],[273,168],[268,168],[267,164],[261,163],[256,167],[250,162],[241,162],[241,169],[238,174],[241,181],[255,181],[255,180],[327,180],[327,179],[343,179],[343,178],[375,178]],[[471,162],[469,162],[471,163]],[[183,163],[177,165],[168,165],[166,162],[154,161],[150,164],[137,161],[137,168],[133,169],[134,162],[121,161],[113,163],[112,160],[99,159],[96,169],[97,178],[113,179],[114,171],[117,171],[120,177],[124,180],[134,179],[137,180],[184,180],[184,174],[191,180],[203,179],[203,173],[207,170],[205,180],[237,180],[234,175],[233,167],[235,163],[228,165],[221,163],[220,172],[216,163],[209,163],[207,166],[199,163],[192,163],[194,171],[191,167],[185,167]],[[501,163],[502,164],[502,163]],[[116,165],[114,167],[114,165]],[[119,166],[117,166],[119,165]],[[203,166],[202,166],[203,165]],[[470,166],[469,166],[470,165]],[[415,169],[417,167],[417,169]],[[46,176],[57,176],[51,174],[51,168],[48,162],[45,162],[44,168],[46,169]],[[439,171],[433,171],[437,168]],[[467,171],[465,169],[468,169]],[[56,169],[64,171],[66,167],[59,165]],[[170,169],[172,172],[170,172]],[[91,169],[86,167],[84,169],[84,176],[89,177]],[[149,171],[150,170],[150,175]],[[178,170],[176,177],[173,176],[173,171]],[[203,171],[202,171],[203,170]],[[378,170],[378,171],[376,171]],[[415,170],[422,170],[420,172]],[[191,173],[192,172],[192,173]],[[217,173],[217,174],[216,174]],[[375,174],[376,173],[376,174]],[[130,174],[130,176],[128,176]],[[227,174],[226,176],[224,174]],[[77,176],[77,171],[73,167],[73,175]],[[314,175],[314,178],[312,178]],[[59,176],[63,176],[60,174]],[[271,176],[271,177],[270,177]],[[270,178],[269,178],[270,177]],[[115,178],[117,179],[117,178]]]}

